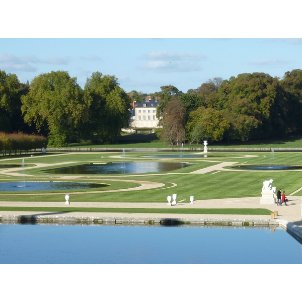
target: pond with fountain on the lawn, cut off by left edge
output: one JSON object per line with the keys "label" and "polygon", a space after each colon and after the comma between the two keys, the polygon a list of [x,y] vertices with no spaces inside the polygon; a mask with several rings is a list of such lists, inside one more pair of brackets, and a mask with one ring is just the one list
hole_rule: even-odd
{"label": "pond with fountain on the lawn, cut off by left edge", "polygon": [[2,182],[0,191],[55,191],[77,190],[107,187],[106,184],[86,182],[60,182],[60,181],[26,181],[26,182]]}

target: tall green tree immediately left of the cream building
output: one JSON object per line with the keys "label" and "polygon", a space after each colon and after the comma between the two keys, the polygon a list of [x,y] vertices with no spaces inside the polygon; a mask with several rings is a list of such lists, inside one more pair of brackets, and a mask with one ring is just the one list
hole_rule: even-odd
{"label": "tall green tree immediately left of the cream building", "polygon": [[131,99],[119,86],[114,75],[94,72],[84,88],[89,103],[89,120],[81,125],[83,135],[96,134],[101,143],[111,143],[127,125]]}

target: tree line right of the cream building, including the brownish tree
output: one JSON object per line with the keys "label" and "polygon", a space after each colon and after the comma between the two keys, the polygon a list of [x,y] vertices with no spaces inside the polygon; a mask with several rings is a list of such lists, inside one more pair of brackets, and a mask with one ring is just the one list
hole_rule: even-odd
{"label": "tree line right of the cream building, including the brownish tree", "polygon": [[[169,144],[226,142],[302,134],[302,70],[214,78],[186,94],[170,87],[159,104],[159,135]],[[167,89],[163,87],[162,90]],[[175,131],[178,129],[178,136]]]}

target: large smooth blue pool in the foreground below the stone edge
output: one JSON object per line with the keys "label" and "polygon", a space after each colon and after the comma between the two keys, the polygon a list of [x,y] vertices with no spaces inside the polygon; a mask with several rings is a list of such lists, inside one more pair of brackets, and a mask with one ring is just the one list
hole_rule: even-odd
{"label": "large smooth blue pool in the foreground below the stone edge", "polygon": [[283,229],[0,224],[0,264],[302,264]]}

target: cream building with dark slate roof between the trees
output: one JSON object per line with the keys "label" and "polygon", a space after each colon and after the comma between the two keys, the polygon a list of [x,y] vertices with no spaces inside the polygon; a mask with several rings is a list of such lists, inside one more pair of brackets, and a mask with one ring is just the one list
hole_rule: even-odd
{"label": "cream building with dark slate roof between the trees", "polygon": [[129,126],[135,128],[157,128],[159,120],[156,116],[156,110],[159,101],[159,97],[151,100],[150,96],[147,96],[144,101],[138,104],[134,103],[131,109]]}

